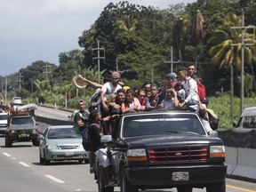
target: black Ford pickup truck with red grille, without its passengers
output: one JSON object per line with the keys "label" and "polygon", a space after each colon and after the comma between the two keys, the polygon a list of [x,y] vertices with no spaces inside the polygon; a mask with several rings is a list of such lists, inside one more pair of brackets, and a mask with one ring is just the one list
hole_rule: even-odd
{"label": "black Ford pickup truck with red grille, without its passengers", "polygon": [[191,192],[226,191],[225,148],[216,131],[206,132],[200,118],[187,111],[151,111],[121,116],[108,146],[115,184],[100,192],[138,192],[139,189],[177,188]]}

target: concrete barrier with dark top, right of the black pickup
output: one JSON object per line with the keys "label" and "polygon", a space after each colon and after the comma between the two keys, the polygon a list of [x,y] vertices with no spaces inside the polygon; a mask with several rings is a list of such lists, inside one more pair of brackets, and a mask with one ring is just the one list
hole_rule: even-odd
{"label": "concrete barrier with dark top, right of the black pickup", "polygon": [[226,147],[228,177],[256,182],[256,132],[254,130],[220,130]]}

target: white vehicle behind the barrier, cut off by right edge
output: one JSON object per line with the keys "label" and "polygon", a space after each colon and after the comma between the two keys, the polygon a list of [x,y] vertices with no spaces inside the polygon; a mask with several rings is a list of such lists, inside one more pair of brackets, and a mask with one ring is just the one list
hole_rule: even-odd
{"label": "white vehicle behind the barrier, cut off by right edge", "polygon": [[238,123],[233,124],[237,129],[256,129],[256,107],[244,108]]}

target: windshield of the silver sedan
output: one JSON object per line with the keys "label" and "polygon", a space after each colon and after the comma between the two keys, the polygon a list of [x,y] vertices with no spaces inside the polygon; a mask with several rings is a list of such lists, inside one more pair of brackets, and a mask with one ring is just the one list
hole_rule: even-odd
{"label": "windshield of the silver sedan", "polygon": [[81,138],[80,134],[76,134],[75,129],[71,128],[59,128],[50,129],[47,135],[48,139],[64,139],[64,138]]}

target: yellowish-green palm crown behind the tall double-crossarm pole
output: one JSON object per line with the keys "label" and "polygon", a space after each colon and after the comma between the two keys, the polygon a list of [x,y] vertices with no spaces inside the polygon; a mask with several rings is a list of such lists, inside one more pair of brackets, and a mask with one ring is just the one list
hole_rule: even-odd
{"label": "yellowish-green palm crown behind the tall double-crossarm pole", "polygon": [[[227,17],[222,20],[223,23],[219,28],[216,28],[212,37],[207,41],[207,44],[211,46],[210,55],[212,60],[220,62],[220,68],[236,66],[238,71],[241,70],[241,49],[242,49],[242,33],[240,27],[242,26],[242,17],[236,16],[236,14],[228,14]],[[256,41],[252,38],[252,34],[244,33],[244,44],[250,43],[256,45]],[[238,44],[236,46],[232,44]],[[244,45],[244,59],[248,62],[255,61],[255,55],[253,54],[253,46]]]}

